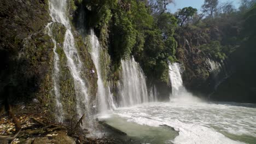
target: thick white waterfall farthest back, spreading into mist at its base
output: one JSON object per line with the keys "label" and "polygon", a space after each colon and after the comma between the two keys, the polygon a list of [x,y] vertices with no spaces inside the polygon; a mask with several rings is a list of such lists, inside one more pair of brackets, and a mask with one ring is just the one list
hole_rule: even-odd
{"label": "thick white waterfall farthest back, spreading into mist at its base", "polygon": [[170,95],[170,101],[179,101],[183,103],[200,101],[199,98],[194,97],[183,86],[181,71],[178,63],[169,63],[169,77],[172,84],[172,95]]}

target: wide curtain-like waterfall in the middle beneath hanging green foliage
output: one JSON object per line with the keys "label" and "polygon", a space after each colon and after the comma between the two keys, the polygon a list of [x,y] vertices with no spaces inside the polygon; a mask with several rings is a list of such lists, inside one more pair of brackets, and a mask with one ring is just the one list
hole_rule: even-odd
{"label": "wide curtain-like waterfall in the middle beneath hanging green foliage", "polygon": [[120,106],[131,106],[149,102],[146,78],[144,73],[132,57],[121,60],[122,82],[120,85]]}

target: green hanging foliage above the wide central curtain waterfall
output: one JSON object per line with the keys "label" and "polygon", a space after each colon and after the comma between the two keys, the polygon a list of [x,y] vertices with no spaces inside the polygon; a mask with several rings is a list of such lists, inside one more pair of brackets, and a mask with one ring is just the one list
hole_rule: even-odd
{"label": "green hanging foliage above the wide central curtain waterfall", "polygon": [[[163,11],[172,1],[158,1]],[[171,13],[152,15],[143,1],[85,1],[89,27],[100,32],[103,46],[108,47],[113,69],[120,60],[135,56],[144,73],[156,81],[168,81],[168,61],[176,61],[177,42],[173,38],[177,19]],[[114,73],[115,71],[113,71]]]}

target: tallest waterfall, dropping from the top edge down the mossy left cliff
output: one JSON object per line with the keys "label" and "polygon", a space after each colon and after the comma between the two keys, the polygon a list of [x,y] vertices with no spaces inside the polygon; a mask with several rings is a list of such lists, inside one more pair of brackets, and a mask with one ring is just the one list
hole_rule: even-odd
{"label": "tallest waterfall, dropping from the top edge down the mossy left cliff", "polygon": [[[49,10],[52,21],[59,22],[66,27],[65,40],[63,42],[63,51],[65,52],[65,55],[67,57],[67,66],[74,80],[78,115],[79,117],[82,117],[82,115],[85,114],[86,117],[90,117],[91,113],[89,107],[89,96],[87,93],[87,87],[81,76],[83,63],[80,60],[79,53],[75,47],[74,36],[71,32],[71,25],[69,24],[69,20],[67,17],[67,6],[68,5],[66,0],[49,0]],[[57,53],[55,57],[57,57]],[[57,63],[57,61],[58,59],[55,58],[55,63]],[[55,71],[57,70],[55,69]],[[59,85],[59,83],[57,83],[56,81],[56,86],[57,85]],[[91,118],[86,119],[89,124],[90,119]]]}

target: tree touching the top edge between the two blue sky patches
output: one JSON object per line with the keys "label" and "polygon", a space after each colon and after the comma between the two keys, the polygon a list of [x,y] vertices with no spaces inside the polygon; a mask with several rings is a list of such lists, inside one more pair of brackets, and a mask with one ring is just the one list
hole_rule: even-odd
{"label": "tree touching the top edge between the two blue sky patches", "polygon": [[218,3],[218,0],[205,0],[205,3],[202,5],[203,13],[207,13],[208,16],[213,17],[213,14],[217,11]]}

